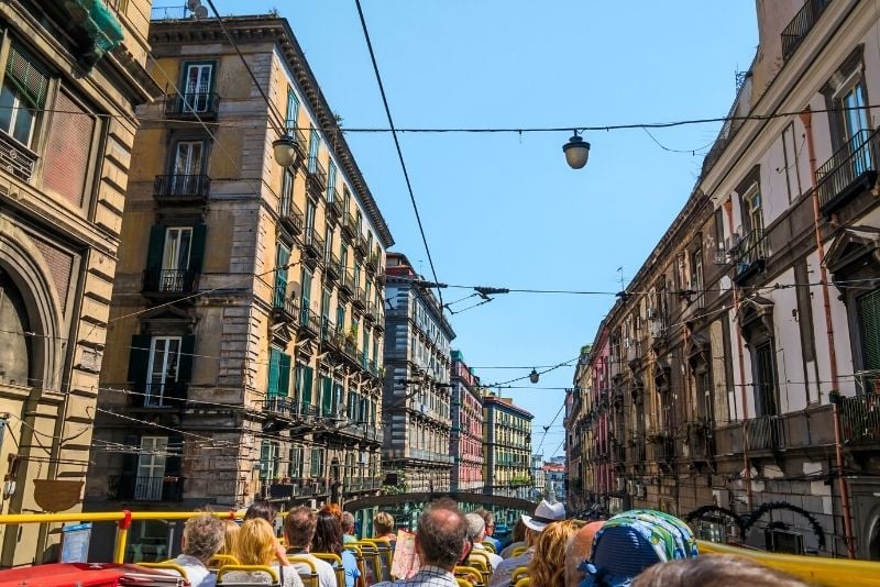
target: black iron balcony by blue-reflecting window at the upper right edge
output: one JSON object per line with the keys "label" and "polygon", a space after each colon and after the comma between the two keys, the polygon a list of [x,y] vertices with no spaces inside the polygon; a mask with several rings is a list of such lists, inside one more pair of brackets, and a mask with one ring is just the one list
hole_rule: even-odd
{"label": "black iron balcony by blue-reflecting window at the upper right edge", "polygon": [[878,132],[859,131],[816,170],[820,211],[826,218],[877,182]]}

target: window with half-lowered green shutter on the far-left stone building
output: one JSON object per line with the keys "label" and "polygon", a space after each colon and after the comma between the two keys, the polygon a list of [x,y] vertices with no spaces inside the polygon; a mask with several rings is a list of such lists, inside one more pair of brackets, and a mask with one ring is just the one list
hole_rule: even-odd
{"label": "window with half-lowered green shutter on the far-left stone building", "polygon": [[0,130],[32,147],[37,112],[45,106],[47,95],[48,76],[24,53],[11,47],[0,90]]}

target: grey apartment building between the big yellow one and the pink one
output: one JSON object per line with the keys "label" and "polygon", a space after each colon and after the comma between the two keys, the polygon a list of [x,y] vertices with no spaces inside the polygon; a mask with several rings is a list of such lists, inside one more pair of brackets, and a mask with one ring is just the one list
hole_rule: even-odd
{"label": "grey apartment building between the big yellow one and the pink one", "polygon": [[449,491],[455,332],[406,255],[388,253],[383,465],[408,491]]}

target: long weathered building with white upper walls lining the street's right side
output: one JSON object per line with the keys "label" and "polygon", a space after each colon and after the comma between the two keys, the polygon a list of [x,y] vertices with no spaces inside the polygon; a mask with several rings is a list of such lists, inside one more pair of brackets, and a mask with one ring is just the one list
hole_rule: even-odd
{"label": "long weathered building with white upper walls lining the street's right side", "polygon": [[575,378],[618,479],[582,483],[707,539],[880,558],[880,22],[858,0],[758,15],[730,110],[755,118],[724,125],[600,328],[607,377]]}

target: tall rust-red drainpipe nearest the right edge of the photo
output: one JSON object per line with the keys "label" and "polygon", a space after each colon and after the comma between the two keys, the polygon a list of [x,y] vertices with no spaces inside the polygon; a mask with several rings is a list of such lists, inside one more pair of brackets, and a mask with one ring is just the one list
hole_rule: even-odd
{"label": "tall rust-red drainpipe nearest the right edge of the photo", "polygon": [[[825,310],[825,333],[828,339],[828,361],[832,369],[832,391],[829,399],[832,400],[832,410],[834,417],[834,453],[837,464],[837,481],[840,486],[840,501],[844,509],[844,533],[846,536],[846,550],[850,558],[856,557],[856,543],[853,539],[853,520],[849,510],[849,490],[844,478],[844,453],[843,441],[840,439],[840,401],[839,401],[839,387],[837,379],[837,353],[834,347],[834,324],[832,323],[832,303],[828,294],[828,272],[825,268],[825,246],[822,243],[822,229],[818,206],[818,177],[816,176],[816,152],[813,143],[813,113],[810,107],[801,112],[801,122],[804,125],[806,133],[806,151],[810,157],[810,180],[813,189],[813,222],[815,225],[816,236],[816,253],[818,254],[818,270],[820,281],[822,283],[822,304]],[[820,386],[820,394],[822,392]]]}

